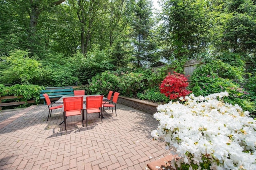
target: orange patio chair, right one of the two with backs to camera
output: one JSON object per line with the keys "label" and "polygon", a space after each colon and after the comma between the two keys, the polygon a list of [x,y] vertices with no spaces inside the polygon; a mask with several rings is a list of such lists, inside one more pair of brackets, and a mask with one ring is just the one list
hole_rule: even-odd
{"label": "orange patio chair, right one of the two with backs to camera", "polygon": [[87,96],[86,97],[86,126],[88,125],[88,114],[89,113],[99,113],[99,118],[101,116],[101,123],[102,123],[102,115],[101,108],[102,108],[102,100],[103,96]]}

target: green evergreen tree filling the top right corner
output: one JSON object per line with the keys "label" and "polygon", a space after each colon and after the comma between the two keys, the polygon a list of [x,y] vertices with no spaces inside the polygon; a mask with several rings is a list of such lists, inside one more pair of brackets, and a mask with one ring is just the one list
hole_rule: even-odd
{"label": "green evergreen tree filling the top right corner", "polygon": [[226,0],[215,18],[216,51],[255,53],[256,5],[254,0]]}

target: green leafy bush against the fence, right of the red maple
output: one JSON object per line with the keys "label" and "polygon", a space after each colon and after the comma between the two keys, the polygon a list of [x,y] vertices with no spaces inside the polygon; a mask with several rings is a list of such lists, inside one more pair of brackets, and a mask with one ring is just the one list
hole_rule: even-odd
{"label": "green leafy bush against the fence, right of the red maple", "polygon": [[[238,72],[228,73],[224,71],[219,71],[217,68],[228,64],[223,64],[222,61],[208,63],[204,66],[197,68],[192,74],[190,80],[189,89],[192,90],[193,94],[196,96],[207,96],[209,94],[219,93],[219,92],[228,92],[228,98],[225,98],[225,102],[230,104],[238,104],[243,108],[243,110],[248,110],[250,113],[255,112],[255,102],[252,100],[252,93],[243,88],[240,88],[240,85],[234,82],[229,78],[240,78]],[[231,67],[230,67],[231,68]],[[233,69],[236,70],[236,69]],[[229,74],[229,75],[228,75]]]}

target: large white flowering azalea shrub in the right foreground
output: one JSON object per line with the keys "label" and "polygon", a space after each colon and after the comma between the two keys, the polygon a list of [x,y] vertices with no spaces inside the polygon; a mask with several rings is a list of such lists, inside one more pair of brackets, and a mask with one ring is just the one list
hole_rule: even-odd
{"label": "large white flowering azalea shrub in the right foreground", "polygon": [[[172,167],[190,170],[256,170],[256,120],[238,105],[222,102],[227,92],[180,98],[160,105],[151,132],[178,155]],[[186,101],[183,104],[183,101]]]}

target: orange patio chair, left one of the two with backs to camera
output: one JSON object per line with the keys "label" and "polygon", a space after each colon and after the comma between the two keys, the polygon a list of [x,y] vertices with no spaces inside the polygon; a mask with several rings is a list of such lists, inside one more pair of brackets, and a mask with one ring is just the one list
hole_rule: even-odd
{"label": "orange patio chair, left one of the two with backs to camera", "polygon": [[84,127],[84,121],[83,121],[83,115],[84,115],[84,97],[65,97],[63,98],[64,103],[64,124],[65,124],[65,130],[66,130],[66,117],[68,116],[74,116],[74,115],[82,115],[82,124]]}

